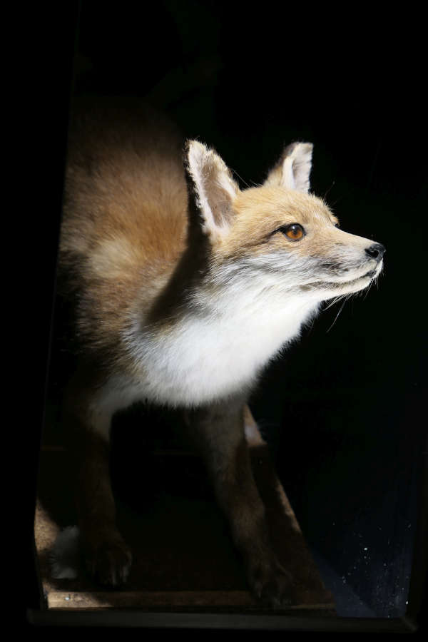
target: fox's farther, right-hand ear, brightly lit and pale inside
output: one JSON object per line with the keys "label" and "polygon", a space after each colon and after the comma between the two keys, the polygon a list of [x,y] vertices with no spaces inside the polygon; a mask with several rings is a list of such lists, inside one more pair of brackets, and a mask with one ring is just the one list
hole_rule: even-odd
{"label": "fox's farther, right-hand ear, brightly lit and pale inside", "polygon": [[312,149],[312,143],[291,143],[288,145],[282,152],[278,163],[270,170],[264,184],[309,192]]}

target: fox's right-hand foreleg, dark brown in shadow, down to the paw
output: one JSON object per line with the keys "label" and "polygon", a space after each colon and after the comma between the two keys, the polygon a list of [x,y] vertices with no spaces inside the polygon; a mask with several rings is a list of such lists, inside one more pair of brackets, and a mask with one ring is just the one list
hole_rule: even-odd
{"label": "fox's right-hand foreleg, dark brown in shadow, down to the paw", "polygon": [[270,544],[265,506],[245,439],[243,404],[195,409],[188,421],[235,546],[243,556],[251,590],[272,606],[285,606],[291,601],[292,581]]}

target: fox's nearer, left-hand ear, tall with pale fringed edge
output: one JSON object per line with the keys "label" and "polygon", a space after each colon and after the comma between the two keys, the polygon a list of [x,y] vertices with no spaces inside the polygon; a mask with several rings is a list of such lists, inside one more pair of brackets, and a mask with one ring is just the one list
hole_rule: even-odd
{"label": "fox's nearer, left-hand ear, tall with pale fringed edge", "polygon": [[212,239],[220,238],[233,219],[232,203],[239,187],[220,156],[199,141],[186,143],[185,165],[203,218],[203,232]]}

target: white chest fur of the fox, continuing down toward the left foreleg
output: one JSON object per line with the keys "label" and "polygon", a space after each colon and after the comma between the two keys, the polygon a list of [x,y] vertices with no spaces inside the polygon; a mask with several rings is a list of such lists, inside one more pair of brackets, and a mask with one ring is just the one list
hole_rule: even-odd
{"label": "white chest fur of the fox, continuing down toward the left foreleg", "polygon": [[213,402],[250,388],[278,350],[317,311],[290,298],[268,309],[254,303],[232,315],[188,318],[168,332],[135,330],[124,337],[136,375],[111,377],[93,403],[93,424],[105,437],[113,413],[143,400],[172,406]]}

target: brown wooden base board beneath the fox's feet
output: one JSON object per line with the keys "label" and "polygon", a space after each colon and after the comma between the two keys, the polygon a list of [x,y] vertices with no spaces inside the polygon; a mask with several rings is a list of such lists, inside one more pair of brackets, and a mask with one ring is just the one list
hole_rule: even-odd
{"label": "brown wooden base board beneath the fox's feet", "polygon": [[[252,462],[267,506],[274,546],[292,571],[292,604],[275,613],[335,616],[292,508],[255,432]],[[223,516],[205,480],[200,460],[190,452],[164,449],[141,467],[122,469],[116,484],[118,526],[133,551],[128,583],[101,590],[78,564],[76,579],[51,576],[51,553],[61,529],[76,524],[73,471],[61,447],[44,445],[39,469],[35,539],[47,609],[133,608],[148,612],[266,613],[253,600]],[[141,461],[136,459],[136,461]],[[114,469],[114,467],[113,467]],[[126,474],[123,474],[126,470]],[[114,481],[113,470],[113,481]]]}

